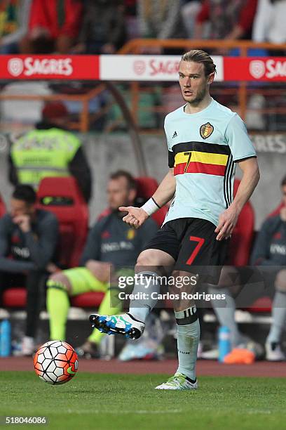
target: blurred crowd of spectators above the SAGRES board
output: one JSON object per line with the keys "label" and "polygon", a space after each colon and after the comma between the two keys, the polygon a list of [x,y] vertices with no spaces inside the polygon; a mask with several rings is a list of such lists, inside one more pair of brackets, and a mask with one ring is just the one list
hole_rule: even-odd
{"label": "blurred crowd of spectators above the SAGRES board", "polygon": [[129,39],[284,43],[286,0],[2,0],[0,53],[115,53]]}

